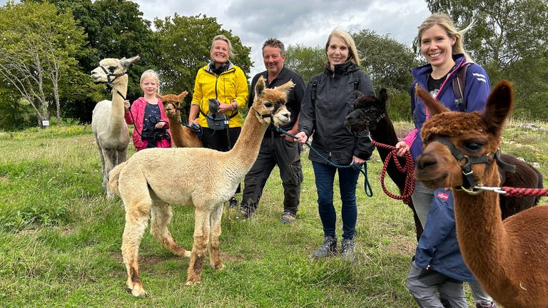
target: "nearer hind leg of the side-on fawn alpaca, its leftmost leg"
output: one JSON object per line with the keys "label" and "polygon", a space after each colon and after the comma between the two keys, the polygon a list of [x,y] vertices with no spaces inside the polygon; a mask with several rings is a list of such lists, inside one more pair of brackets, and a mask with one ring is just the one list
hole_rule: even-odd
{"label": "nearer hind leg of the side-on fawn alpaca, its leftmost leg", "polygon": [[150,203],[126,206],[126,226],[122,237],[122,258],[128,272],[126,285],[135,297],[145,297],[146,291],[139,277],[138,253],[141,239],[148,225]]}

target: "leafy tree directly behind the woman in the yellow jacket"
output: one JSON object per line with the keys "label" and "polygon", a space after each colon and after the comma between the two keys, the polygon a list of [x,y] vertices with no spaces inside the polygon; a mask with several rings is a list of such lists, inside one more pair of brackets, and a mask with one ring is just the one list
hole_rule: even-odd
{"label": "leafy tree directly behind the woman in the yellow jacket", "polygon": [[223,34],[232,43],[235,56],[231,56],[230,61],[249,76],[251,48],[243,46],[232,31],[222,29],[215,17],[175,14],[163,20],[155,19],[154,26],[157,29],[157,67],[161,73],[163,93],[188,91],[187,100],[191,101],[196,72],[210,61],[211,41],[218,34]]}

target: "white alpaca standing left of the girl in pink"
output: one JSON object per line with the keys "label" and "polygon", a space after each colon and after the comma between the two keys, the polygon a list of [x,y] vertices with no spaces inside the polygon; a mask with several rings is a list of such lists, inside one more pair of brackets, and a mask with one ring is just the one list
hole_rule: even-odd
{"label": "white alpaca standing left of the girl in pink", "polygon": [[129,134],[128,125],[123,118],[124,101],[128,91],[128,76],[126,75],[133,58],[104,58],[99,66],[91,71],[91,78],[96,83],[108,83],[112,88],[112,101],[100,101],[93,108],[91,116],[91,131],[95,136],[101,169],[103,170],[103,188],[106,197],[114,197],[114,193],[107,186],[108,173],[118,164],[126,161]]}

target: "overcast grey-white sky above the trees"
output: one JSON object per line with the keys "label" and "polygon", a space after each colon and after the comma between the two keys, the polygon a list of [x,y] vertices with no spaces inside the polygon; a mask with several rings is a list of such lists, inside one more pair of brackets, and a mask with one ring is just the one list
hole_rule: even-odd
{"label": "overcast grey-white sky above the trees", "polygon": [[[216,17],[223,29],[232,30],[251,47],[251,77],[264,71],[260,48],[276,37],[285,46],[325,46],[335,27],[371,29],[411,45],[417,26],[430,15],[424,0],[133,0],[145,19],[203,14]],[[0,0],[6,4],[6,0]],[[213,38],[211,38],[213,39]],[[126,55],[121,55],[126,56]],[[238,63],[235,63],[238,65]]]}

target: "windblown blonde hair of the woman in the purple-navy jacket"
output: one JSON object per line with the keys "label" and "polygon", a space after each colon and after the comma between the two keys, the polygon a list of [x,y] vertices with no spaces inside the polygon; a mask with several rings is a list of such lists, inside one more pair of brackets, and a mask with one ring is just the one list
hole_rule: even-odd
{"label": "windblown blonde hair of the woman in the purple-navy jacket", "polygon": [[419,33],[417,34],[417,42],[419,43],[419,46],[421,44],[421,37],[422,34],[427,30],[432,28],[432,26],[438,25],[441,26],[445,32],[447,33],[447,36],[450,38],[455,38],[455,44],[452,46],[452,54],[462,53],[465,55],[465,58],[467,61],[472,62],[472,58],[466,53],[465,46],[462,43],[464,39],[465,33],[472,29],[472,26],[474,26],[475,21],[472,21],[465,29],[457,30],[455,28],[455,24],[453,24],[453,21],[451,20],[450,16],[448,16],[445,13],[434,13],[427,17],[425,21],[422,21],[422,24],[419,26]]}

